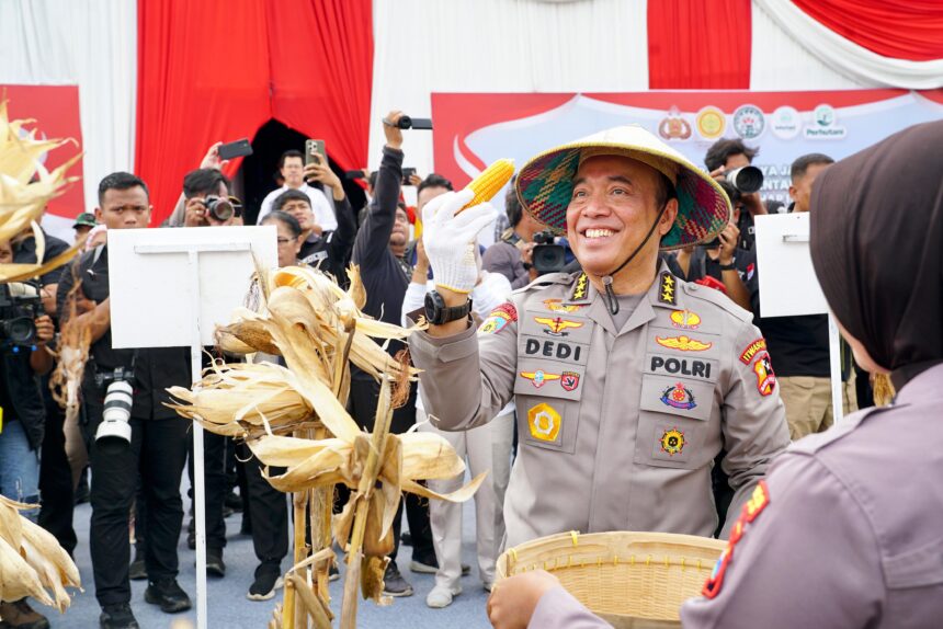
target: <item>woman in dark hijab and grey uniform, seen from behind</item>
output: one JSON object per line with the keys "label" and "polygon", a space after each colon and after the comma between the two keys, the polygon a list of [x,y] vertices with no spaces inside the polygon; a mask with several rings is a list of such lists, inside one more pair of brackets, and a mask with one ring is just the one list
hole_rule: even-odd
{"label": "woman in dark hijab and grey uniform, seen from behind", "polygon": [[[855,359],[889,407],[781,455],[745,505],[685,628],[943,622],[943,122],[822,173],[813,263]],[[502,582],[496,627],[605,627],[547,573]]]}

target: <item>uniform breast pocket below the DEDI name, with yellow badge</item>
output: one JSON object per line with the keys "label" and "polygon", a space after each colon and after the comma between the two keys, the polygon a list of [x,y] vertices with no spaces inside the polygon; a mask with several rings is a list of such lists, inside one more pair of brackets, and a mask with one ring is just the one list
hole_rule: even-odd
{"label": "uniform breast pocket below the DEDI name, with yellow badge", "polygon": [[514,402],[520,443],[573,454],[579,431],[583,367],[523,361],[518,370]]}

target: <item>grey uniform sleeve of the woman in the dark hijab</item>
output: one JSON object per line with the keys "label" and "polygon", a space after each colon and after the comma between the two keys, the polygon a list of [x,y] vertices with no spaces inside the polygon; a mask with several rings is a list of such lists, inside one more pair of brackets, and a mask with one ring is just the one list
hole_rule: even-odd
{"label": "grey uniform sleeve of the woman in the dark hijab", "polygon": [[883,572],[863,505],[806,455],[783,455],[759,487],[703,596],[681,607],[683,627],[876,626]]}

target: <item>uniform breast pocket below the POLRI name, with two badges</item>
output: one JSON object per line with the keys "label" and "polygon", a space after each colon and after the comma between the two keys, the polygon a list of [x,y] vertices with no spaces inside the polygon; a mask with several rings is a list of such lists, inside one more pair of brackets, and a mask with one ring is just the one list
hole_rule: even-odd
{"label": "uniform breast pocket below the POLRI name, with two badges", "polygon": [[704,446],[713,404],[711,382],[643,376],[635,462],[695,469],[712,459]]}

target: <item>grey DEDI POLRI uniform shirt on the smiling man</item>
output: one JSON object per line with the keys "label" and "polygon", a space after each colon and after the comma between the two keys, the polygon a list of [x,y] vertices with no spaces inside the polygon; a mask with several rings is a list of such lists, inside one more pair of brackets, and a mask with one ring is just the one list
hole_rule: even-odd
{"label": "grey DEDI POLRI uniform shirt on the smiling man", "polygon": [[513,397],[520,448],[507,546],[579,530],[713,535],[714,458],[749,498],[788,445],[751,314],[662,271],[622,329],[584,275],[545,276],[478,333],[410,336],[435,425],[459,431]]}

